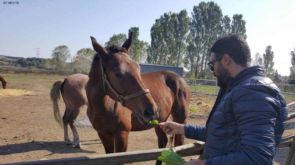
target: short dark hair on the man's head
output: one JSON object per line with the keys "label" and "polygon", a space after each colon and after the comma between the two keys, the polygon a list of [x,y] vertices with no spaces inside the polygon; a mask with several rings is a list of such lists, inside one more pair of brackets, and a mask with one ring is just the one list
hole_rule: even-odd
{"label": "short dark hair on the man's head", "polygon": [[211,52],[216,54],[216,58],[228,54],[236,64],[241,66],[247,66],[251,62],[248,43],[238,34],[229,33],[222,36],[211,47]]}

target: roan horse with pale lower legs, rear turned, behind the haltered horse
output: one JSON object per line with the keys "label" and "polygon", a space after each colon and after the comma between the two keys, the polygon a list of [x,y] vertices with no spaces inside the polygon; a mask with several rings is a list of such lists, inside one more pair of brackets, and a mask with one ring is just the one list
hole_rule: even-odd
{"label": "roan horse with pale lower legs, rear turned, behind the haltered horse", "polygon": [[[59,80],[55,82],[50,91],[50,97],[53,102],[54,117],[58,124],[63,127],[64,140],[67,141],[68,144],[76,145],[78,148],[81,148],[81,143],[77,129],[75,127],[75,120],[84,105],[87,105],[85,86],[88,79],[88,76],[83,74],[70,75],[65,78],[64,81]],[[63,101],[65,102],[65,114],[63,115],[63,119],[61,119],[58,107],[60,93],[63,96]],[[69,138],[68,124],[70,125],[73,132],[75,142]]]}

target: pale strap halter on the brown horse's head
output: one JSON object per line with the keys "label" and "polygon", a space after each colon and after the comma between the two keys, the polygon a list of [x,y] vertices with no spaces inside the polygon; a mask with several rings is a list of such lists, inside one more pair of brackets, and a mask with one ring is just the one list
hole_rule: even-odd
{"label": "pale strap halter on the brown horse's head", "polygon": [[[127,95],[127,96],[122,96],[122,95],[119,95],[119,93],[112,87],[112,85],[109,83],[108,79],[106,79],[106,74],[104,73],[104,68],[102,66],[102,58],[100,58],[100,66],[101,66],[101,73],[102,73],[102,78],[103,78],[103,81],[104,81],[104,92],[106,93],[106,85],[107,84],[109,86],[109,88],[114,92],[114,94],[119,97],[119,99],[121,100],[121,105],[124,107],[124,101],[127,100],[127,99],[131,99],[133,97],[137,97],[139,95],[144,95],[144,94],[147,94],[147,93],[150,93],[150,90],[148,89],[145,89],[145,90],[141,90],[139,92],[136,92],[136,93],[133,93],[131,95]],[[106,93],[106,95],[108,95]]]}

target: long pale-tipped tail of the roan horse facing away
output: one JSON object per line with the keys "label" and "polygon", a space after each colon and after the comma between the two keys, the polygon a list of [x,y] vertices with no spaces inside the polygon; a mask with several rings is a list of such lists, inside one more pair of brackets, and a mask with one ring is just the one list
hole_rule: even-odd
{"label": "long pale-tipped tail of the roan horse facing away", "polygon": [[58,122],[60,127],[63,128],[63,119],[60,116],[58,100],[60,100],[60,91],[63,90],[63,84],[65,82],[62,80],[58,80],[53,84],[53,87],[50,90],[50,98],[53,102],[53,113],[55,121]]}

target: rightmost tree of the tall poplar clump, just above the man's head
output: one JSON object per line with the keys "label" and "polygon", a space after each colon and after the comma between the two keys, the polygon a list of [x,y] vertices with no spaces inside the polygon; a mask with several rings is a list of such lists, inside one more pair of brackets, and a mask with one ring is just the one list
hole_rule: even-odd
{"label": "rightmost tree of the tall poplar clump, just above the man's head", "polygon": [[246,35],[246,21],[242,19],[243,15],[242,14],[235,14],[232,16],[232,33],[240,34],[243,36],[245,39],[247,39]]}

